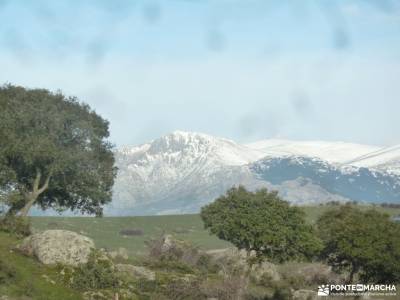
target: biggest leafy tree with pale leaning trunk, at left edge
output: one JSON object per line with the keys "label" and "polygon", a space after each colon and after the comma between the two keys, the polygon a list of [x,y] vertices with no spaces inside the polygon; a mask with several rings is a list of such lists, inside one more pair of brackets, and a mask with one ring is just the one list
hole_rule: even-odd
{"label": "biggest leafy tree with pale leaning trunk, at left edge", "polygon": [[74,97],[0,87],[0,190],[9,213],[33,205],[101,214],[116,174],[108,122]]}

